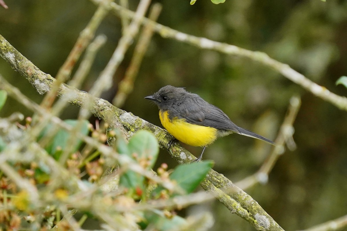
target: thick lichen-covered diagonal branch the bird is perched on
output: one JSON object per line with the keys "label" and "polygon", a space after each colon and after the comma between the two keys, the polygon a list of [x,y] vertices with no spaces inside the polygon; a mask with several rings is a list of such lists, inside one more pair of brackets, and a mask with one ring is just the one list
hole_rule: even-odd
{"label": "thick lichen-covered diagonal branch the bird is perched on", "polygon": [[[50,90],[54,81],[51,75],[42,72],[26,57],[20,54],[4,37],[0,35],[0,56],[8,62],[11,67],[25,77],[39,93],[45,93]],[[73,89],[73,96],[67,92],[71,88],[62,83],[58,96],[66,98],[70,103],[83,107],[85,98],[92,97],[86,92],[78,89]],[[108,101],[94,98],[94,104],[91,107],[91,112],[98,118],[107,121],[111,127],[121,128],[128,136],[138,130],[147,130],[152,132],[158,139],[161,148],[168,149],[169,142],[174,138],[166,130],[163,130],[132,113],[125,112],[113,105]],[[191,162],[195,157],[185,150],[181,145],[176,143],[168,150],[172,157],[179,163]],[[283,230],[272,217],[267,214],[263,208],[247,193],[235,186],[228,178],[211,170],[203,181],[202,186],[207,191],[218,193],[217,199],[224,204],[232,213],[236,213],[243,219],[250,222],[257,230]],[[226,191],[227,193],[223,192]]]}

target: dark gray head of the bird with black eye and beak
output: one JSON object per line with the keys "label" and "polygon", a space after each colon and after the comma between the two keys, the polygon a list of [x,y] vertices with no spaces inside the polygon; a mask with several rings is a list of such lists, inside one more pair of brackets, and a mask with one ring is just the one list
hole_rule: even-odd
{"label": "dark gray head of the bird with black eye and beak", "polygon": [[160,88],[153,95],[145,97],[145,99],[153,100],[160,110],[166,110],[172,105],[177,104],[187,93],[184,88],[167,85]]}

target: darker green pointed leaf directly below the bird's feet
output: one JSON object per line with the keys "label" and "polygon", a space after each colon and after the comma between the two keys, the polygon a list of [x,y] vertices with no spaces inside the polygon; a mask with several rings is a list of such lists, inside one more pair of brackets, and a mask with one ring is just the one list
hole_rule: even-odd
{"label": "darker green pointed leaf directly below the bird's feet", "polygon": [[201,161],[189,163],[187,165],[179,165],[171,173],[170,179],[176,180],[177,184],[187,193],[193,190],[206,177],[206,174],[213,166],[212,161]]}

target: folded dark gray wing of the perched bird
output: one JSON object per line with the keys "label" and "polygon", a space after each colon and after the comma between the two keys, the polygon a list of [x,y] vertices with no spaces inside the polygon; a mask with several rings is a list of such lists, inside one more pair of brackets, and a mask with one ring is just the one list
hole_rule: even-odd
{"label": "folded dark gray wing of the perched bird", "polygon": [[209,104],[194,110],[187,110],[184,118],[188,123],[230,130],[239,133],[238,126],[232,123],[229,117],[218,107]]}

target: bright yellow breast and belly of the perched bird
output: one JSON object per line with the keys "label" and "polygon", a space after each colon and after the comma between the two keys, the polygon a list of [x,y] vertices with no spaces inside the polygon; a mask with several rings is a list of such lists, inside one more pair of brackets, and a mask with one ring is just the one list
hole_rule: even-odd
{"label": "bright yellow breast and belly of the perched bird", "polygon": [[160,122],[177,140],[192,145],[206,146],[217,139],[218,131],[213,127],[190,124],[185,119],[170,119],[168,112],[159,111]]}

